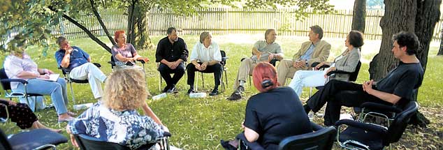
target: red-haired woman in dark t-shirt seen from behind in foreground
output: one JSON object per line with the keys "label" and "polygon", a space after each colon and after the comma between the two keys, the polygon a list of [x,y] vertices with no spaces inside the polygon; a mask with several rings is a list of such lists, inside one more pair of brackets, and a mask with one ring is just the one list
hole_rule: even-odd
{"label": "red-haired woman in dark t-shirt seen from behind in foreground", "polygon": [[[310,120],[296,93],[289,87],[278,87],[277,71],[270,63],[261,62],[252,72],[254,87],[260,91],[247,101],[245,132],[237,138],[260,144],[264,149],[278,149],[285,137],[312,132]],[[225,142],[225,149],[236,149],[238,140]]]}

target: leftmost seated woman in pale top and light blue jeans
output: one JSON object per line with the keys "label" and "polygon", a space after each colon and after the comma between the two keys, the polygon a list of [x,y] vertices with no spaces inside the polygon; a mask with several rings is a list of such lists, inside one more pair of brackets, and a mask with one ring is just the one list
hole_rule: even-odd
{"label": "leftmost seated woman in pale top and light blue jeans", "polygon": [[[50,95],[52,103],[59,115],[59,122],[73,119],[72,112],[68,112],[68,97],[66,93],[66,82],[63,78],[58,78],[56,82],[48,81],[49,75],[53,72],[49,69],[38,68],[25,50],[25,44],[8,43],[10,55],[6,57],[3,67],[6,75],[10,79],[27,80],[27,93],[38,93]],[[45,80],[41,80],[45,79]],[[24,84],[21,82],[11,82],[10,87],[14,92],[24,92]]]}

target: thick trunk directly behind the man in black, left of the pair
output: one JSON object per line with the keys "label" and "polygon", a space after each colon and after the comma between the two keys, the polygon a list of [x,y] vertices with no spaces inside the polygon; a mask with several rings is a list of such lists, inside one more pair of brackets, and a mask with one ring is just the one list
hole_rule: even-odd
{"label": "thick trunk directly behind the man in black, left of the pair", "polygon": [[395,59],[391,52],[394,33],[400,31],[414,32],[417,0],[385,0],[385,11],[380,27],[382,27],[382,45],[380,51],[370,62],[370,79],[379,80],[384,77],[389,70],[397,66],[398,59]]}

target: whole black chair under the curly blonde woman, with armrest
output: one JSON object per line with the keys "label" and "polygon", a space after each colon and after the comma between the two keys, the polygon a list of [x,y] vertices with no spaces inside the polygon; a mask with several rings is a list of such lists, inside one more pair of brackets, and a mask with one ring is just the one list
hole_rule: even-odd
{"label": "whole black chair under the curly blonde woman, with armrest", "polygon": [[[164,138],[162,138],[159,142],[161,150],[169,150],[169,143],[168,138],[170,137],[170,133],[164,133]],[[113,143],[113,142],[105,142],[102,140],[99,140],[95,137],[90,137],[89,135],[80,134],[80,135],[74,135],[75,141],[78,144],[78,147],[82,150],[88,150],[88,149],[115,149],[115,150],[126,150],[131,149],[129,147],[126,147],[121,144]],[[154,146],[157,143],[148,143],[144,144],[141,147],[138,147],[138,150],[141,149],[150,149],[152,146]]]}

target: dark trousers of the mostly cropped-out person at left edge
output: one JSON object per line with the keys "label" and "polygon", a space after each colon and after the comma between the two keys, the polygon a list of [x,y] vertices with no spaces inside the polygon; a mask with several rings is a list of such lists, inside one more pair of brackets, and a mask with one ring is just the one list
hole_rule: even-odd
{"label": "dark trousers of the mostly cropped-out person at left edge", "polygon": [[36,114],[32,112],[31,108],[24,103],[16,103],[15,105],[9,103],[8,100],[0,99],[0,117],[6,118],[5,105],[8,107],[10,121],[16,123],[21,129],[31,128],[32,123],[37,121]]}

